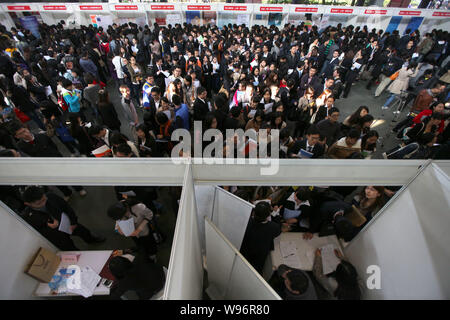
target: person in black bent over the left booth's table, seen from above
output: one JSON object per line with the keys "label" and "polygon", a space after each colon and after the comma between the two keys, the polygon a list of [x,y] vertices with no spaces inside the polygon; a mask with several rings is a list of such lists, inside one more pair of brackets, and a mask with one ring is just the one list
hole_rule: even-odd
{"label": "person in black bent over the left booth's table, seen from above", "polygon": [[111,299],[118,300],[122,296],[130,299],[135,295],[139,300],[148,300],[164,287],[166,276],[162,266],[147,261],[139,254],[133,262],[129,260],[129,255],[122,255],[120,250],[113,255],[108,265],[116,278],[109,293]]}

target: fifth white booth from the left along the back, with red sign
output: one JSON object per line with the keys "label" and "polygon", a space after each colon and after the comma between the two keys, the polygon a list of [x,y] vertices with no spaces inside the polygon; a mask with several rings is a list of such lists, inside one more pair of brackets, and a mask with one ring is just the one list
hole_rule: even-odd
{"label": "fifth white booth from the left along the back, with red sign", "polygon": [[170,24],[174,27],[177,23],[183,23],[180,3],[146,4],[145,9],[149,26],[157,23],[160,26],[168,26]]}

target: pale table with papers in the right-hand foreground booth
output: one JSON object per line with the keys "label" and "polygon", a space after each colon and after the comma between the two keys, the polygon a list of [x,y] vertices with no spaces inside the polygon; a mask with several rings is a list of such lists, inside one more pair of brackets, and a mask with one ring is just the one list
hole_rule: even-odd
{"label": "pale table with papers in the right-hand foreground booth", "polygon": [[[296,247],[296,255],[300,260],[300,268],[304,271],[312,271],[314,264],[314,254],[317,248],[327,244],[333,244],[336,248],[342,250],[341,243],[335,235],[319,237],[318,233],[310,240],[303,239],[303,232],[282,232],[281,235],[274,239],[274,250],[270,252],[267,257],[263,269],[263,278],[269,280],[273,272],[278,269],[280,264],[283,264],[283,257],[281,256],[280,242],[292,241]],[[285,263],[287,264],[287,263]],[[287,264],[289,265],[289,264]],[[298,266],[292,266],[298,267]]]}

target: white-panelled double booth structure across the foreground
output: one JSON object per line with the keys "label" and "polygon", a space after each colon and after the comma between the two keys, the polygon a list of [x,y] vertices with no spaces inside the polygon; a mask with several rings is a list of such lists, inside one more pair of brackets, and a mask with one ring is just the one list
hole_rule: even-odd
{"label": "white-panelled double booth structure across the foreground", "polygon": [[[163,300],[201,300],[206,279],[211,299],[280,299],[268,276],[239,253],[253,205],[219,186],[402,185],[349,243],[335,236],[307,242],[300,233],[280,235],[265,270],[280,263],[310,270],[312,252],[333,246],[357,269],[363,299],[450,298],[450,161],[280,159],[270,160],[278,161],[278,173],[265,176],[261,164],[204,160],[2,158],[0,184],[183,186],[164,290],[153,297]],[[80,268],[90,267],[91,294],[109,293],[106,283],[94,285],[111,251],[59,252],[3,203],[0,237],[0,254],[8,256],[0,268],[1,299],[58,296],[24,272],[38,249],[60,257],[60,266],[75,259]],[[379,275],[374,283],[373,270]]]}

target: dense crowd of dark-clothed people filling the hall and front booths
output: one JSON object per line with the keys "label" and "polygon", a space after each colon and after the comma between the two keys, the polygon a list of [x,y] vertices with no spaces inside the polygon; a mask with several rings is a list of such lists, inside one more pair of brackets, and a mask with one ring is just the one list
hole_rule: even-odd
{"label": "dense crowd of dark-clothed people filling the hall and front booths", "polygon": [[[67,151],[74,157],[168,157],[176,145],[174,130],[192,132],[200,121],[203,132],[217,129],[223,136],[227,129],[252,130],[257,146],[259,134],[266,132],[265,142],[279,143],[279,154],[271,157],[370,159],[380,138],[373,107],[354,106],[342,119],[335,106],[337,99],[348,101],[354,83],[367,81],[367,94],[374,85],[376,96],[389,91],[379,106],[383,112],[394,101],[410,108],[393,128],[399,145],[386,150],[385,158],[449,159],[447,31],[421,36],[406,30],[401,36],[397,30],[341,24],[319,30],[304,23],[282,29],[128,23],[105,30],[68,29],[61,22],[41,24],[39,33],[37,38],[21,27],[0,25],[2,157],[62,157]],[[279,141],[272,130],[279,130]],[[192,145],[208,145],[201,136],[192,139]],[[225,143],[224,155],[248,152]],[[104,241],[78,224],[67,204],[72,189],[81,196],[86,190],[59,189],[64,199],[37,187],[2,187],[1,195],[61,249],[76,249],[58,229],[62,213],[73,235],[88,243]],[[367,186],[345,201],[354,188],[233,189],[256,204],[241,251],[259,272],[281,232],[303,232],[310,239],[332,230],[350,241],[395,191]],[[116,187],[116,193],[118,202],[108,208],[108,217],[121,235],[119,222],[133,218],[135,231],[127,236],[143,249],[147,262],[154,261],[161,241],[155,190]],[[350,218],[355,216],[359,219]],[[116,260],[121,272],[133,268]],[[320,251],[316,260],[313,275],[281,266],[274,286],[284,283],[287,298],[311,299],[315,278],[338,299],[360,297],[350,263],[343,260],[331,279],[321,274]]]}

